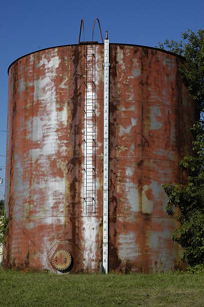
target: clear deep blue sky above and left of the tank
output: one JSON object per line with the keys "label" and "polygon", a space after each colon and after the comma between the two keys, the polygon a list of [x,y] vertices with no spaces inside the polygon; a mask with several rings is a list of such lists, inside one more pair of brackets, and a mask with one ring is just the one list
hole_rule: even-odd
{"label": "clear deep blue sky above and left of the tank", "polygon": [[[99,18],[111,43],[156,46],[166,38],[180,40],[180,33],[188,28],[203,29],[203,12],[203,0],[1,0],[0,130],[7,130],[8,66],[35,50],[78,43],[81,18],[87,41],[92,39],[94,19]],[[98,27],[95,40],[100,41]],[[6,132],[0,131],[0,144],[0,155],[6,155]],[[0,157],[0,166],[5,161]],[[5,178],[4,169],[0,176]],[[0,199],[4,189],[0,185]]]}

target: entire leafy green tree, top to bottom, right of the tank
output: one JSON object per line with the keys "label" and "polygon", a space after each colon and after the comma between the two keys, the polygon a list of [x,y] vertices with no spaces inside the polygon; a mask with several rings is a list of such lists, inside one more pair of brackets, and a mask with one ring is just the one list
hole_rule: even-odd
{"label": "entire leafy green tree, top to bottom, right of the tank", "polygon": [[188,30],[181,37],[180,42],[166,40],[159,47],[186,60],[179,71],[197,108],[198,120],[191,128],[195,156],[184,157],[179,163],[188,176],[188,184],[163,188],[168,196],[166,212],[173,215],[173,208],[179,208],[181,227],[173,232],[172,240],[183,247],[182,260],[195,266],[204,263],[204,30],[197,34]]}

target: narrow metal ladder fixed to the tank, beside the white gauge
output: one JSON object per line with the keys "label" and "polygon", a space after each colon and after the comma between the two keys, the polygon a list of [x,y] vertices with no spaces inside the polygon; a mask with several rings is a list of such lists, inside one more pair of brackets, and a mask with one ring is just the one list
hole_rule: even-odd
{"label": "narrow metal ladder fixed to the tank, beside the white gauge", "polygon": [[96,213],[96,113],[95,113],[95,44],[84,45],[84,204],[88,214]]}

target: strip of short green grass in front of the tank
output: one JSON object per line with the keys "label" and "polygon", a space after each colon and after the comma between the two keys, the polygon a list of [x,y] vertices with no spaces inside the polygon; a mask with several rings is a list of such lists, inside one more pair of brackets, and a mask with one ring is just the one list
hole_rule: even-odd
{"label": "strip of short green grass in front of the tank", "polygon": [[1,306],[204,306],[204,274],[64,274],[0,269]]}

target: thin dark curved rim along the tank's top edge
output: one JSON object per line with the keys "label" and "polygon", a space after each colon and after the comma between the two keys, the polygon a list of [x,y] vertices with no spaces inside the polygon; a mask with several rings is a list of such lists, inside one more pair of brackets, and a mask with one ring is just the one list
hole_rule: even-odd
{"label": "thin dark curved rim along the tank's top edge", "polygon": [[[9,71],[10,71],[10,68],[13,64],[15,64],[17,61],[21,60],[22,58],[24,57],[27,57],[31,54],[34,54],[34,53],[37,53],[37,52],[41,52],[41,51],[44,51],[44,50],[49,50],[49,49],[55,49],[55,48],[63,48],[63,47],[71,47],[71,46],[84,46],[84,45],[88,45],[87,42],[85,42],[85,44],[69,44],[69,45],[60,45],[60,46],[52,46],[52,47],[48,47],[48,48],[43,48],[43,49],[39,49],[39,50],[36,50],[36,51],[32,51],[30,53],[27,53],[19,58],[17,58],[15,61],[13,61],[9,67],[8,67],[8,75],[9,75]],[[96,43],[94,42],[94,45],[104,45],[103,43]],[[164,49],[160,49],[160,48],[157,48],[157,47],[151,47],[151,46],[144,46],[144,45],[136,45],[136,44],[126,44],[126,43],[110,43],[110,45],[117,45],[117,46],[133,46],[133,47],[141,47],[141,48],[148,48],[148,49],[151,49],[151,50],[157,50],[157,51],[160,51],[160,52],[164,52],[164,53],[167,53],[167,54],[170,54],[170,55],[173,55],[175,57],[178,57],[178,58],[181,58],[183,60],[185,60],[185,58],[181,55],[178,55],[176,53],[173,53],[173,52],[170,52],[170,51],[167,51],[167,50],[164,50]]]}

